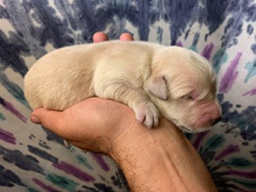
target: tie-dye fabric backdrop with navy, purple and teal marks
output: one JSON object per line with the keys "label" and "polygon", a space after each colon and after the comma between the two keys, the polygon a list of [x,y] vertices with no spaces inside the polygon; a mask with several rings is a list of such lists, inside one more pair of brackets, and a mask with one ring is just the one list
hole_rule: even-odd
{"label": "tie-dye fabric backdrop with navy, purple and teal marks", "polygon": [[[0,0],[0,191],[128,191],[106,156],[29,121],[23,78],[56,48],[116,39],[179,45],[209,61],[223,118],[190,135],[220,191],[256,191],[256,1]],[[145,162],[147,163],[147,162]]]}

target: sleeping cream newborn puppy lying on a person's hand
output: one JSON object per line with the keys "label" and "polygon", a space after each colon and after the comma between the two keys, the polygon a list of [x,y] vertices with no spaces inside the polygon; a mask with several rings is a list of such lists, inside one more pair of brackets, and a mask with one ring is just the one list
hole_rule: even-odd
{"label": "sleeping cream newborn puppy lying on a person's hand", "polygon": [[182,47],[106,41],[54,50],[28,71],[24,92],[32,109],[65,110],[93,96],[125,103],[138,122],[159,117],[182,131],[211,128],[221,116],[209,62]]}

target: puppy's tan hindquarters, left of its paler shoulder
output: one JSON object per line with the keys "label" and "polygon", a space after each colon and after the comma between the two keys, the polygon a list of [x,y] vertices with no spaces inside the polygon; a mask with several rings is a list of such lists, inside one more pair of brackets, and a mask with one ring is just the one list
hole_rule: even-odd
{"label": "puppy's tan hindquarters, left of its paler shoulder", "polygon": [[90,45],[60,48],[44,55],[31,67],[24,78],[24,93],[32,109],[64,110],[79,102],[79,97],[93,96],[94,61],[90,49]]}

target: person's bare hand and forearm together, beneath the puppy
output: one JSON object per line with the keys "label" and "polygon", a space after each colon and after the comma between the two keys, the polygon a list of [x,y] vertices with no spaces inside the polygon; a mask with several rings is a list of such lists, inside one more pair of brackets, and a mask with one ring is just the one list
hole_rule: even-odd
{"label": "person's bare hand and forearm together, beneath the puppy", "polygon": [[216,191],[198,153],[165,119],[147,129],[131,108],[99,98],[65,112],[38,108],[32,115],[71,144],[115,159],[132,191]]}

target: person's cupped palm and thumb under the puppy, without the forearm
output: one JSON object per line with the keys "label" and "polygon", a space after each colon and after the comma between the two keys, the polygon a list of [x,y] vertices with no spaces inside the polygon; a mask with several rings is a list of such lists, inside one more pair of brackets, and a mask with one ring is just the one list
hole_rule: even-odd
{"label": "person's cupped palm and thumb under the puppy, without the forearm", "polygon": [[38,122],[80,149],[109,154],[116,138],[131,126],[132,110],[112,100],[89,98],[63,112],[38,108],[31,121]]}

